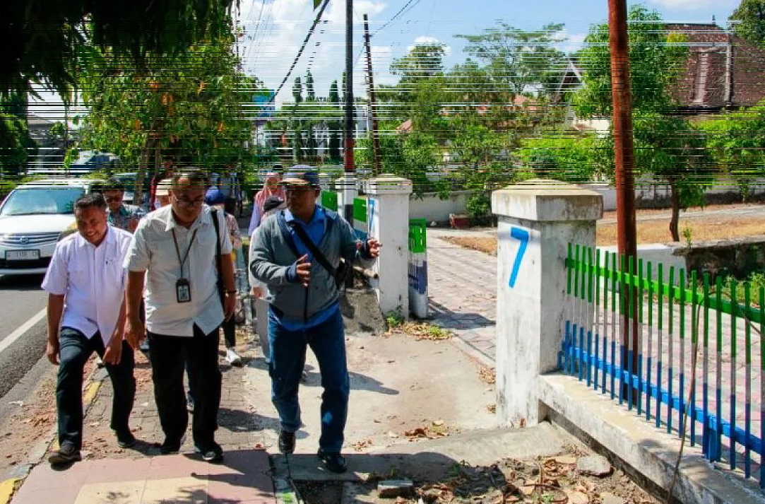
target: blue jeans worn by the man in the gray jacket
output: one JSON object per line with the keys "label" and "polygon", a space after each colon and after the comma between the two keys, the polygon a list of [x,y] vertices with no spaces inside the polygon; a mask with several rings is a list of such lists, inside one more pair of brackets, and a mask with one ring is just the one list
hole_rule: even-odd
{"label": "blue jeans worn by the man in the gray jacket", "polygon": [[301,426],[298,386],[305,365],[305,350],[311,346],[319,362],[321,387],[324,388],[319,448],[324,453],[340,453],[350,393],[340,310],[327,322],[298,331],[288,331],[272,315],[269,317],[269,343],[271,400],[278,411],[282,430],[295,432]]}

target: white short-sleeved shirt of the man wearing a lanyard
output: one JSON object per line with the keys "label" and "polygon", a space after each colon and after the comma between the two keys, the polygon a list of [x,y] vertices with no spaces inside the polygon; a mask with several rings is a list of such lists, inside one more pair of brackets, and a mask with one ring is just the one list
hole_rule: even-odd
{"label": "white short-sleeved shirt of the man wearing a lanyard", "polygon": [[[222,211],[218,211],[218,224],[217,240],[225,256],[232,249]],[[189,251],[183,272],[183,278],[190,283],[189,303],[177,301],[175,286],[181,279],[181,263],[173,231],[181,258]],[[197,237],[190,244],[194,231]],[[194,335],[194,325],[209,334],[223,322],[223,306],[216,286],[215,241],[215,227],[207,205],[188,229],[175,222],[171,205],[152,211],[138,223],[125,257],[125,268],[146,272],[144,293],[149,332],[190,337]]]}

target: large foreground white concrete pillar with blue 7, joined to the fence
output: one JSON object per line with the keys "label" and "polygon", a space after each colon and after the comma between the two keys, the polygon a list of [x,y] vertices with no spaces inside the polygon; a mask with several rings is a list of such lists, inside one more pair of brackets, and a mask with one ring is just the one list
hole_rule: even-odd
{"label": "large foreground white concrete pillar with blue 7, joined to the fence", "polygon": [[539,375],[555,371],[563,340],[568,244],[595,246],[597,192],[549,180],[494,191],[498,217],[496,412],[500,425],[544,420]]}

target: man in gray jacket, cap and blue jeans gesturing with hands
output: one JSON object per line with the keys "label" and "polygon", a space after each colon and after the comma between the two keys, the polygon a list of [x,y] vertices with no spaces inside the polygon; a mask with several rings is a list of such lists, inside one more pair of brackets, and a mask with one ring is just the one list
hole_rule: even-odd
{"label": "man in gray jacket, cap and blue jeans gesturing with hands", "polygon": [[[317,456],[335,473],[347,469],[340,455],[350,381],[336,273],[340,259],[373,263],[381,246],[356,240],[353,228],[334,211],[316,204],[321,190],[314,169],[296,165],[283,180],[287,208],[253,234],[249,268],[268,286],[272,401],[279,414],[279,450],[295,450],[301,426],[298,386],[311,346],[321,371],[321,437]],[[308,241],[308,244],[306,243]]]}

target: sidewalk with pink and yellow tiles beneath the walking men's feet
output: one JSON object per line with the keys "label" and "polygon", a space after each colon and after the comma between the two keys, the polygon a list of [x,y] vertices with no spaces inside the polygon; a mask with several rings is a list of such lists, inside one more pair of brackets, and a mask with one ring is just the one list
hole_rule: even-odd
{"label": "sidewalk with pink and yellow tiles beneath the walking men's feet", "polygon": [[[240,331],[237,339],[240,353],[252,357],[252,351],[247,351],[252,345],[246,333]],[[181,453],[158,454],[158,443],[164,435],[151,386],[151,368],[145,356],[137,352],[137,392],[130,421],[138,438],[136,446],[129,450],[116,446],[109,429],[112,386],[101,370],[96,374],[101,386],[83,422],[83,462],[66,470],[40,463],[24,480],[11,504],[273,504],[271,466],[268,453],[262,449],[261,417],[246,399],[243,386],[248,382],[247,369],[228,365],[223,360],[223,345],[219,355],[223,391],[216,440],[225,450],[223,463],[203,462],[194,453],[191,417]]]}

